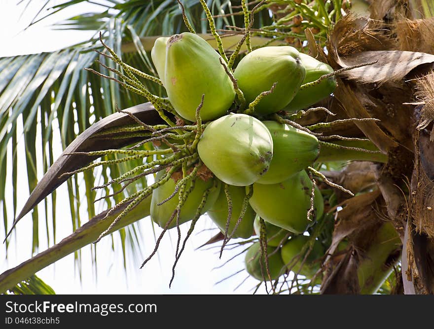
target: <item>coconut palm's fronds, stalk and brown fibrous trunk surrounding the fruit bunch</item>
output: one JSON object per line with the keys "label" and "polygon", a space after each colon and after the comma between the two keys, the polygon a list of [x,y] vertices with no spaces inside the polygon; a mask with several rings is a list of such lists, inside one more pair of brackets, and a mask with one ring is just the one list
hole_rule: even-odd
{"label": "coconut palm's fronds, stalk and brown fibrous trunk surrounding the fruit bunch", "polygon": [[[52,7],[51,13],[63,10],[77,2],[85,1],[66,1]],[[18,118],[23,120],[29,189],[35,190],[38,183],[36,164],[42,161],[43,171],[45,172],[56,161],[53,158],[53,143],[56,143],[53,139],[54,129],[59,129],[62,147],[65,149],[72,142],[77,141],[78,136],[93,126],[95,121],[108,117],[117,108],[132,108],[147,101],[143,96],[125,90],[113,79],[110,80],[103,76],[106,75],[112,78],[115,76],[112,71],[107,69],[114,64],[110,58],[102,53],[104,47],[101,44],[98,31],[102,33],[101,40],[109,48],[113,49],[122,58],[123,62],[152,75],[156,73],[150,60],[149,51],[157,36],[170,36],[188,31],[184,24],[185,19],[203,37],[208,38],[207,36],[209,36],[208,21],[199,0],[181,1],[183,7],[180,6],[178,1],[174,0],[98,0],[96,2],[105,7],[103,12],[86,13],[72,17],[70,20],[57,25],[58,28],[64,29],[95,31],[95,36],[90,40],[51,53],[0,59],[0,76],[2,77],[0,79],[0,163],[2,164],[1,168],[6,168],[8,163],[12,164],[12,184],[14,186],[17,184],[16,173],[18,171],[16,161],[16,145],[19,137],[17,130]],[[258,2],[260,1],[252,1],[249,5],[252,6]],[[432,55],[429,55],[434,53],[432,46],[430,48],[430,44],[432,44],[430,40],[432,41],[434,37],[423,31],[430,31],[429,28],[426,28],[427,25],[433,27],[432,21],[428,18],[432,16],[433,8],[430,1],[422,0],[401,0],[396,3],[393,1],[393,3],[391,1],[373,1],[367,12],[365,4],[369,5],[370,1],[359,1],[360,4],[357,6],[359,12],[367,12],[371,18],[376,20],[369,21],[354,18],[351,15],[344,15],[346,6],[350,5],[349,2],[266,1],[263,4],[264,7],[261,8],[263,10],[258,10],[256,13],[252,27],[253,46],[271,44],[272,42],[279,42],[279,44],[288,42],[301,47],[301,41],[305,39],[312,41],[313,37],[314,40],[319,40],[320,46],[327,45],[328,52],[324,53],[322,47],[312,46],[312,42],[309,43],[310,51],[317,53],[320,57],[322,56],[324,61],[327,61],[334,69],[350,67],[360,63],[370,63],[371,68],[374,68],[369,71],[369,69],[362,67],[343,73],[342,78],[338,78],[339,87],[333,97],[330,98],[334,102],[330,103],[330,99],[326,102],[329,110],[337,113],[340,119],[377,118],[381,119],[382,124],[380,126],[373,121],[369,121],[354,125],[354,122],[345,121],[341,126],[332,129],[333,134],[331,134],[330,130],[327,132],[326,129],[329,129],[329,126],[324,126],[323,133],[326,135],[341,135],[344,137],[343,142],[345,142],[345,138],[353,139],[351,142],[358,138],[368,138],[371,144],[366,147],[371,147],[376,152],[372,154],[377,155],[375,159],[373,156],[363,157],[360,154],[358,154],[359,158],[352,154],[351,158],[341,159],[331,152],[328,158],[326,156],[323,158],[324,163],[328,164],[321,167],[326,176],[343,186],[349,186],[353,183],[352,189],[360,192],[360,195],[348,198],[343,195],[342,191],[334,190],[333,197],[335,200],[328,200],[330,214],[334,214],[333,205],[336,205],[336,207],[344,206],[344,208],[339,214],[340,221],[335,225],[332,222],[333,216],[329,222],[324,223],[324,225],[329,226],[328,235],[324,237],[329,242],[329,249],[328,256],[323,259],[324,277],[321,282],[321,292],[372,293],[378,291],[378,282],[386,282],[382,286],[380,284],[380,292],[385,293],[400,292],[404,289],[406,289],[406,292],[433,292],[433,276],[426,270],[432,262],[430,257],[433,255],[431,253],[430,216],[426,214],[426,209],[431,206],[427,203],[429,200],[427,200],[426,193],[419,195],[418,188],[414,186],[414,184],[422,182],[425,176],[428,175],[429,177],[429,167],[426,167],[427,161],[424,158],[424,156],[428,156],[424,154],[428,153],[424,153],[423,150],[429,147],[425,141],[429,137],[424,134],[426,134],[425,128],[429,128],[431,117],[429,111],[424,109],[426,109],[427,100],[430,99],[430,89],[427,86],[430,85],[432,80],[426,73],[424,65],[434,62],[430,57]],[[317,11],[310,11],[309,8],[311,7],[309,5],[314,5],[314,3],[318,6],[316,7]],[[243,10],[240,8],[240,1],[208,0],[207,4],[214,15],[217,31],[232,30],[237,32],[232,32],[232,35],[223,39],[225,49],[233,51],[231,47],[236,44],[244,33],[232,28],[234,26],[244,26],[245,15],[243,15]],[[339,10],[332,10],[332,8],[339,8]],[[182,15],[183,10],[184,16]],[[297,15],[294,13],[303,16],[307,23],[304,22],[301,26],[297,25],[295,21]],[[344,18],[341,19],[341,17]],[[416,18],[422,20],[417,21]],[[376,23],[378,21],[386,21],[389,34],[383,32],[385,26]],[[275,25],[273,26],[273,24]],[[275,29],[267,29],[267,26]],[[306,30],[308,27],[311,29]],[[304,31],[316,33],[312,35],[307,33],[305,37]],[[357,33],[352,31],[357,31]],[[228,31],[226,32],[228,33]],[[411,38],[408,41],[409,38],[407,37],[410,33],[419,33],[419,40],[424,40],[424,42],[417,45],[411,43]],[[259,37],[259,39],[254,39],[254,37]],[[309,39],[309,37],[311,38]],[[397,37],[397,44],[393,44],[392,37]],[[210,38],[210,40],[215,45],[213,43],[215,42],[214,39]],[[374,40],[377,40],[378,44]],[[95,49],[99,52],[95,52]],[[403,52],[404,50],[411,51],[411,53]],[[412,57],[416,52],[426,55],[422,56],[418,53],[419,58],[416,60]],[[395,61],[394,55],[402,56],[398,61],[398,67],[405,68],[392,73],[381,74],[379,65]],[[375,60],[379,61],[380,64],[378,62],[372,64]],[[84,70],[84,68],[90,68],[102,74],[95,75]],[[423,68],[425,68],[425,71],[423,71]],[[116,69],[121,70],[117,64]],[[397,86],[397,80],[402,80],[404,77],[411,76],[415,78],[420,76],[408,75],[410,71],[417,73],[416,70],[422,70],[419,73],[426,76],[425,80],[421,79],[417,84],[421,99],[420,104],[405,104],[403,108],[403,103],[414,102],[413,91],[408,85]],[[158,83],[154,81],[144,81],[144,83],[151,93],[166,96],[164,88]],[[372,92],[372,90],[375,91]],[[394,98],[392,96],[396,94],[401,97]],[[413,109],[415,106],[416,111],[420,112],[420,115],[424,118],[423,120],[419,120],[417,115],[409,113],[409,108]],[[405,119],[385,117],[384,113],[386,111],[390,116],[405,116]],[[36,120],[36,118],[40,118],[40,120]],[[419,120],[419,129],[409,130],[408,121],[415,118]],[[312,125],[323,120],[324,117],[320,115],[296,119],[299,120],[297,122],[300,122],[300,124]],[[41,134],[40,139],[42,141],[39,154],[35,145],[38,131]],[[410,137],[422,142],[413,144]],[[86,139],[79,140],[79,142],[89,144]],[[422,151],[415,151],[415,145],[416,149]],[[8,147],[11,148],[11,153],[8,153]],[[378,155],[379,153],[382,153],[381,156]],[[11,159],[8,159],[9,154],[12,154]],[[108,160],[116,159],[118,157],[115,155],[108,156]],[[414,161],[415,159],[417,161]],[[332,160],[367,160],[370,162],[359,166],[350,164],[342,170],[337,170],[333,163],[329,163]],[[90,172],[83,174],[86,208],[90,219],[85,224],[82,223],[83,220],[80,218],[78,211],[82,199],[79,196],[80,189],[78,185],[82,177],[70,175],[71,179],[67,180],[67,185],[74,231],[70,239],[68,239],[67,243],[54,245],[57,242],[57,237],[54,235],[53,245],[48,250],[3,273],[1,275],[1,291],[11,289],[22,280],[27,280],[27,283],[16,286],[15,292],[23,292],[22,287],[35,286],[32,283],[37,280],[33,275],[39,269],[70,253],[75,253],[78,259],[79,249],[95,241],[101,232],[107,229],[109,221],[101,220],[105,214],[96,214],[94,203],[100,195],[97,195],[92,187],[96,184],[107,183],[111,178],[120,176],[128,168],[136,167],[142,163],[141,160],[128,163],[118,162],[120,161],[113,161],[113,164],[109,164],[109,174],[106,171],[101,171],[100,181]],[[397,165],[399,162],[404,165]],[[86,164],[83,162],[78,165],[85,166]],[[11,221],[7,218],[6,202],[12,200],[14,218],[19,219],[21,217],[21,214],[17,212],[18,209],[16,209],[16,192],[8,193],[5,190],[7,179],[6,170],[2,169],[0,173],[0,201],[3,204],[2,216],[5,235],[11,226]],[[407,186],[405,180],[409,182]],[[50,195],[51,202],[48,203],[47,200],[44,202],[45,208],[49,204],[52,205],[53,227],[56,226],[56,194],[53,191],[58,183],[56,181],[42,186],[43,192],[40,193],[38,198],[30,202],[28,205],[30,208],[25,211],[28,212],[45,196]],[[106,199],[107,209],[120,202],[125,196],[146,186],[146,183],[145,179],[141,179],[134,187],[129,185],[125,191],[113,195],[111,199]],[[427,190],[430,190],[429,181],[425,179],[422,183],[424,183]],[[106,192],[109,194],[116,192],[116,190],[106,189]],[[411,198],[411,196],[414,198]],[[416,206],[408,207],[410,200]],[[133,246],[137,246],[138,228],[134,225],[134,222],[149,214],[149,203],[143,202],[141,207],[137,208],[140,211],[132,212],[122,223],[118,223],[114,227],[117,230],[116,234],[120,235],[123,245],[125,245],[125,241],[130,240],[136,241]],[[407,213],[406,210],[409,210],[409,212]],[[115,215],[112,214],[111,216]],[[32,217],[32,253],[35,253],[40,235],[38,232],[39,218],[37,211],[32,213]],[[362,224],[362,219],[366,219],[367,222]],[[398,232],[401,238],[398,239],[399,243],[395,243],[396,246],[389,246],[386,249],[378,248],[378,245],[385,245],[384,241],[381,242],[379,232],[384,231],[384,236],[389,237],[389,240],[394,239],[394,235],[388,235],[389,230],[384,229],[384,225],[379,219],[387,219],[393,223],[393,231]],[[423,219],[423,221],[418,222],[417,219]],[[48,231],[46,235],[47,239],[49,239],[50,233]],[[350,247],[344,251],[338,251],[338,244],[344,238],[349,238]],[[400,250],[402,245],[404,246],[404,253],[401,253]],[[5,247],[7,248],[7,244]],[[124,249],[124,256],[128,252],[132,251]],[[400,261],[401,255],[402,262]],[[382,257],[385,257],[385,259]],[[415,258],[417,259],[415,260]],[[421,258],[423,260],[420,260]],[[377,269],[370,271],[369,268],[373,264],[369,261],[375,262],[377,260],[379,263],[374,264]],[[403,279],[400,272],[401,266],[402,272],[406,273],[406,275],[403,274]],[[395,272],[393,271],[394,268]],[[356,282],[355,277],[358,278]],[[385,281],[388,277],[389,279]],[[371,281],[368,279],[375,281],[375,284],[369,284]],[[307,288],[305,291],[303,289],[305,289],[303,285],[298,286],[300,292],[309,292]]]}

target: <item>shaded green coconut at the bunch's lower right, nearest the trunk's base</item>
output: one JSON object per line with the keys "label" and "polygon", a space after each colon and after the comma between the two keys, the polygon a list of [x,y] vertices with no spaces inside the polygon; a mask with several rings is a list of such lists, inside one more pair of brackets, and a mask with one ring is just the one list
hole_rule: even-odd
{"label": "shaded green coconut at the bunch's lower right, nearest the trunk's base", "polygon": [[312,250],[304,260],[309,246],[306,247],[302,253],[303,247],[309,242],[310,237],[305,235],[298,235],[290,238],[282,247],[281,255],[283,262],[288,268],[294,272],[304,275],[306,277],[312,277],[320,269],[321,262],[318,259],[324,256],[323,246],[320,241],[315,240]]}

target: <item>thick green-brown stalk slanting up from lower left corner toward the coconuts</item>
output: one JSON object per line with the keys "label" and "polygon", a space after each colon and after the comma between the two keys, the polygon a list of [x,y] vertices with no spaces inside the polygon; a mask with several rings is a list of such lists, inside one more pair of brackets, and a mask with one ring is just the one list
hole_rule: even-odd
{"label": "thick green-brown stalk slanting up from lower left corner toward the coconuts", "polygon": [[[150,201],[150,198],[146,198],[139,203],[137,207],[133,208],[121,221],[115,224],[113,230],[121,229],[148,216]],[[17,283],[30,278],[48,265],[93,243],[126,206],[127,204],[123,207],[119,207],[106,219],[104,218],[108,211],[104,211],[77,228],[75,232],[59,243],[0,274],[0,293],[12,289]]]}

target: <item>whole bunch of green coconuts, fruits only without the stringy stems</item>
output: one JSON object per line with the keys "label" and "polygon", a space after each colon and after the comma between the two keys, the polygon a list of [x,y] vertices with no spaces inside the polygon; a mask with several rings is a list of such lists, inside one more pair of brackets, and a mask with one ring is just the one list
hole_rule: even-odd
{"label": "whole bunch of green coconuts, fruits only without the stringy stems", "polygon": [[[319,155],[318,139],[273,120],[273,115],[293,113],[328,97],[336,86],[333,77],[309,88],[300,86],[332,68],[291,46],[267,46],[248,53],[232,70],[207,41],[192,33],[158,38],[151,57],[177,116],[187,123],[201,121],[197,152],[211,173],[186,184],[190,193],[179,219],[168,228],[191,220],[199,206],[226,236],[259,235],[263,219],[270,238],[271,279],[278,278],[296,256],[303,259],[298,255],[308,240],[303,233],[321,219],[324,204],[314,187],[312,211],[313,186],[305,171]],[[170,199],[176,184],[177,179],[171,179],[152,193],[150,215],[161,227],[177,207],[176,195]],[[206,203],[200,205],[208,189]],[[264,280],[259,249],[259,243],[249,249],[246,269]],[[316,270],[313,258],[323,255],[320,244],[313,249],[304,269],[300,261],[291,269],[311,275]]]}

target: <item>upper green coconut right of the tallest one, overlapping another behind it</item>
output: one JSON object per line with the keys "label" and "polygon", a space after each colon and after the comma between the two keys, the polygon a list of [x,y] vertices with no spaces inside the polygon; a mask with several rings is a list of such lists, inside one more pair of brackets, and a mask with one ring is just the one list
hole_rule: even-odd
{"label": "upper green coconut right of the tallest one, overlapping another behind it", "polygon": [[294,98],[306,75],[299,52],[291,46],[269,46],[253,50],[238,63],[234,77],[248,103],[277,83],[272,94],[254,107],[257,114],[285,108]]}

